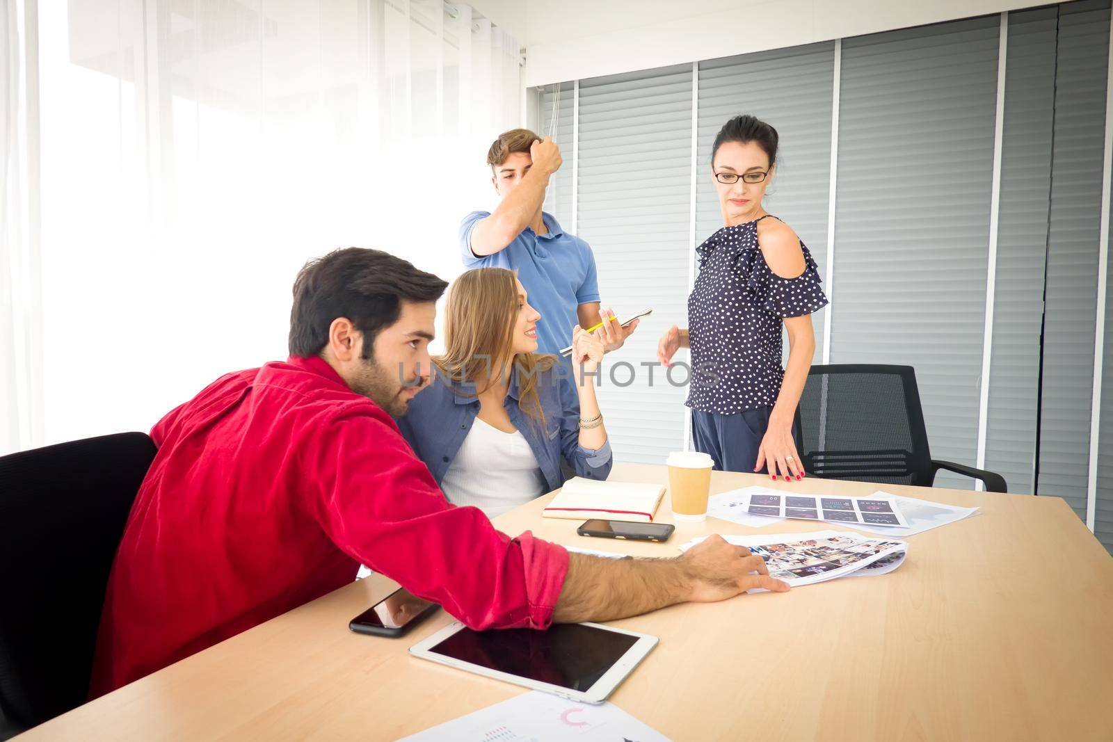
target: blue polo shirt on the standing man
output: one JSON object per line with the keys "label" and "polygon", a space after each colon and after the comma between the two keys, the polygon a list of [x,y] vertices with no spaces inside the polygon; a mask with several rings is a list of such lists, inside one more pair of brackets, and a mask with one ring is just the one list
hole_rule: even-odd
{"label": "blue polo shirt on the standing man", "polygon": [[494,255],[472,253],[472,229],[490,211],[472,211],[460,224],[460,256],[465,268],[508,268],[518,271],[530,305],[541,314],[538,353],[560,353],[572,345],[572,328],[580,319],[575,308],[599,300],[595,256],[585,241],[561,229],[551,214],[542,212],[549,234],[531,227]]}

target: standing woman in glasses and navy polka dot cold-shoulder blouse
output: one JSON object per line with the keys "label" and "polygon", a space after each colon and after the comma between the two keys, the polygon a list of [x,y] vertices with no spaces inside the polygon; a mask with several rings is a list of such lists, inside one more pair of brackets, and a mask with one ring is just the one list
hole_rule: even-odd
{"label": "standing woman in glasses and navy polka dot cold-shoulder blouse", "polygon": [[[812,311],[826,306],[819,271],[796,233],[761,207],[777,160],[777,130],[737,116],[719,130],[711,177],[725,226],[697,248],[687,329],[658,344],[666,366],[691,348],[688,402],[698,451],[716,468],[804,477],[792,422],[811,367]],[[781,324],[789,355],[781,368]]]}

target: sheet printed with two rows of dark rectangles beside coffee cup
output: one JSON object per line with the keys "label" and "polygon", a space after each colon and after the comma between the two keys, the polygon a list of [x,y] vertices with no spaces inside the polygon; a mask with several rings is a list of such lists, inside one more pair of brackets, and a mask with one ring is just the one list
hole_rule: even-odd
{"label": "sheet printed with two rows of dark rectangles beside coffee cup", "polygon": [[908,527],[900,506],[892,497],[790,495],[765,487],[749,487],[746,496],[747,515],[827,521],[844,525]]}

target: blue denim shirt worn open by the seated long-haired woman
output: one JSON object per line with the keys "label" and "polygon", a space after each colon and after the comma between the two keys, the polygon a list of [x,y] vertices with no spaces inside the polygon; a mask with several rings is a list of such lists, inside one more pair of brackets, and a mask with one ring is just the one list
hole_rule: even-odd
{"label": "blue denim shirt worn open by the seated long-haired woman", "polygon": [[[536,388],[545,415],[544,426],[519,407],[518,375],[515,366],[506,393],[506,413],[530,444],[549,492],[564,484],[561,456],[579,476],[605,479],[611,473],[610,441],[598,451],[580,445],[580,396],[575,392],[575,382],[570,378],[571,372],[562,373],[553,367],[540,373]],[[456,394],[453,389],[464,394]],[[471,385],[454,384],[437,375],[410,402],[410,412],[395,418],[402,435],[417,457],[425,462],[437,486],[480,413],[480,400],[474,393],[475,388]]]}

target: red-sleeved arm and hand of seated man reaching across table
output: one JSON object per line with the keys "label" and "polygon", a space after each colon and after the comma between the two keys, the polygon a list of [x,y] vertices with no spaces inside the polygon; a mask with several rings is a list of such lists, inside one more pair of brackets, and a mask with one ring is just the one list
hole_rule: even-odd
{"label": "red-sleeved arm and hand of seated man reaching across table", "polygon": [[569,554],[528,532],[511,538],[477,508],[450,505],[385,413],[353,408],[322,428],[304,466],[328,537],[473,629],[609,621],[788,588],[751,575],[767,573],[765,562],[716,536],[673,560]]}

